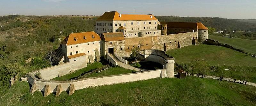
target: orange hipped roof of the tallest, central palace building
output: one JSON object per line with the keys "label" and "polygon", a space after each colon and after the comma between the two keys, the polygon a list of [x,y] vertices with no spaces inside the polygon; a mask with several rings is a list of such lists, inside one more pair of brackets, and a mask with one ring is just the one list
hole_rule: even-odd
{"label": "orange hipped roof of the tallest, central palace building", "polygon": [[[152,16],[152,18],[151,18]],[[121,14],[117,11],[105,12],[96,21],[130,21],[130,20],[158,20],[153,15],[132,15],[132,14]]]}

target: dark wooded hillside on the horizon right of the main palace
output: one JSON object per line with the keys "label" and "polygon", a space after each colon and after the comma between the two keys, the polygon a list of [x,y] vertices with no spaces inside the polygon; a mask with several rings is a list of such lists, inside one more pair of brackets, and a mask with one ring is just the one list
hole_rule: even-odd
{"label": "dark wooded hillside on the horizon right of the main palace", "polygon": [[176,17],[176,16],[156,16],[161,22],[201,22],[206,27],[216,28],[217,30],[250,30],[256,31],[255,23],[236,21],[233,19],[219,17]]}

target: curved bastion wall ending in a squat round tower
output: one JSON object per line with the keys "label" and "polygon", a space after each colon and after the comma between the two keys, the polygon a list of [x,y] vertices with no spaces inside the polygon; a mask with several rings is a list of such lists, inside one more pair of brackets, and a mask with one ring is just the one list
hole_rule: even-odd
{"label": "curved bastion wall ending in a squat round tower", "polygon": [[161,50],[144,50],[145,61],[160,63],[166,70],[167,77],[174,77],[174,57]]}

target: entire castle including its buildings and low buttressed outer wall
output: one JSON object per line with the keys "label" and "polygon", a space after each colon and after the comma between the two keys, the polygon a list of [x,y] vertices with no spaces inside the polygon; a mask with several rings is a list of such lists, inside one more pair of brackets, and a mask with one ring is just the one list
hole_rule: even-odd
{"label": "entire castle including its buildings and low buttressed outer wall", "polygon": [[[174,77],[174,57],[165,53],[167,50],[203,42],[208,38],[208,29],[202,23],[159,22],[156,17],[148,15],[125,15],[116,11],[105,12],[96,20],[95,32],[69,34],[60,44],[56,56],[59,65],[29,72],[28,82],[32,85],[30,93],[43,91],[44,96],[56,92],[69,91],[87,87],[146,80],[157,77]],[[131,50],[142,42],[144,62],[160,63],[158,70],[142,70],[132,67],[123,57],[130,56]],[[128,55],[127,55],[128,54]],[[106,59],[110,65],[119,65],[135,73],[113,76],[52,81],[87,67],[87,63]],[[36,78],[40,73],[40,78]]]}

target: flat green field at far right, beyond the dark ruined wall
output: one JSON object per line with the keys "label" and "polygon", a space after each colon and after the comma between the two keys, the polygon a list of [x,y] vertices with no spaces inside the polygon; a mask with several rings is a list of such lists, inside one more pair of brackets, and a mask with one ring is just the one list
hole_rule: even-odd
{"label": "flat green field at far right, beyond the dark ruined wall", "polygon": [[240,39],[240,38],[228,38],[222,36],[209,35],[209,39],[217,40],[220,43],[226,43],[234,48],[244,50],[249,53],[256,54],[256,40]]}

